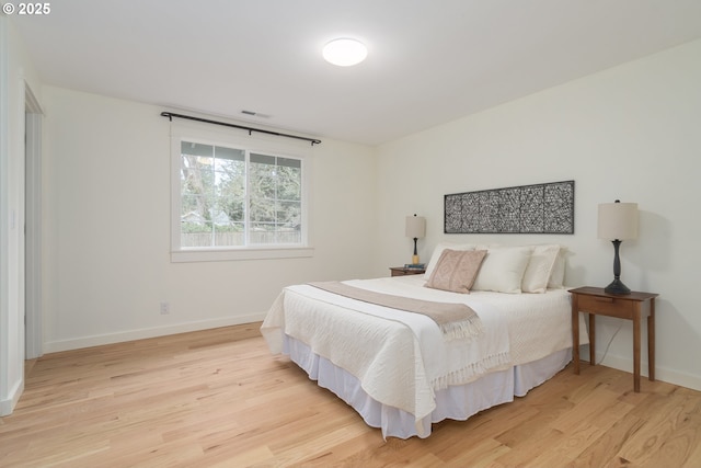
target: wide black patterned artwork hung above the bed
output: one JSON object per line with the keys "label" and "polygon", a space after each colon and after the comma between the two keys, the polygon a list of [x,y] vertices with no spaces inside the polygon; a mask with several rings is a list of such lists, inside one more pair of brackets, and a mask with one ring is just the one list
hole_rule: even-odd
{"label": "wide black patterned artwork hung above the bed", "polygon": [[445,196],[446,233],[574,233],[574,181]]}

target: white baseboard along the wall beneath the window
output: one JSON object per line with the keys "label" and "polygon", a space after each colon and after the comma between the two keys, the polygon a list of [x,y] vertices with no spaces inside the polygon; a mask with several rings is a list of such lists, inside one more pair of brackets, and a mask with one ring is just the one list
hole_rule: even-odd
{"label": "white baseboard along the wall beneath the window", "polygon": [[129,330],[117,333],[81,336],[71,340],[49,341],[44,343],[44,353],[57,353],[59,351],[79,350],[81,347],[101,346],[103,344],[114,344],[125,341],[143,340],[147,338],[260,322],[263,321],[266,313],[267,312],[250,313],[246,316],[227,317],[196,322],[184,322],[165,327]]}

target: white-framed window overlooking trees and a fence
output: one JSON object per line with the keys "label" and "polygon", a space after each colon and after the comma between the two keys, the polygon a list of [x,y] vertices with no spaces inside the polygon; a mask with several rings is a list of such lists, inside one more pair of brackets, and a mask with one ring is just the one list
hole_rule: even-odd
{"label": "white-framed window overlooking trees and a fence", "polygon": [[184,136],[172,144],[173,261],[310,256],[303,157]]}

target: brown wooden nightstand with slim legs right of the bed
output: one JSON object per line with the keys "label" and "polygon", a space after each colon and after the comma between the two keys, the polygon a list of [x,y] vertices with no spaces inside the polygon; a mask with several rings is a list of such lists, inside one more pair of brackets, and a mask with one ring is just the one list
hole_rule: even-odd
{"label": "brown wooden nightstand with slim legs right of the bed", "polygon": [[595,317],[608,316],[633,321],[633,390],[640,392],[640,323],[647,318],[647,375],[655,380],[655,297],[653,293],[633,292],[613,295],[600,287],[578,287],[572,293],[572,359],[579,374],[579,312],[589,315],[589,362],[595,361]]}

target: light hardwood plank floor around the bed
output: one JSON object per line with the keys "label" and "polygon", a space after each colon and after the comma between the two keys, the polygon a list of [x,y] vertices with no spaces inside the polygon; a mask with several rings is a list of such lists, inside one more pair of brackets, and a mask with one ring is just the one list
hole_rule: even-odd
{"label": "light hardwood plank floor around the bed", "polygon": [[[382,440],[258,323],[46,355],[0,420],[2,467],[701,467],[701,392],[570,367],[430,437]],[[31,367],[31,368],[30,368]]]}

